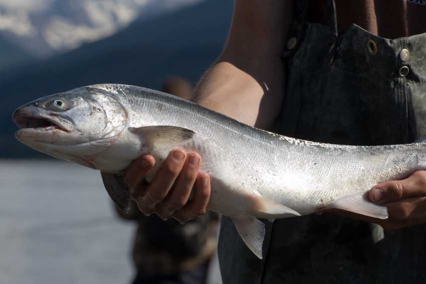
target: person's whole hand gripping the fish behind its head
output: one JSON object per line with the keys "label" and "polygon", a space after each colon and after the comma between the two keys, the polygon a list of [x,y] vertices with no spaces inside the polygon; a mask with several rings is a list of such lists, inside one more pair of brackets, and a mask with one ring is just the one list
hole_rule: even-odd
{"label": "person's whole hand gripping the fish behind its head", "polygon": [[[201,156],[187,154],[176,148],[170,152],[164,165],[150,184],[145,176],[154,167],[155,159],[146,154],[134,160],[124,170],[124,182],[131,188],[137,206],[145,215],[156,213],[164,220],[173,217],[181,223],[204,215],[210,198],[210,177],[198,172]],[[194,188],[193,199],[188,201]]]}

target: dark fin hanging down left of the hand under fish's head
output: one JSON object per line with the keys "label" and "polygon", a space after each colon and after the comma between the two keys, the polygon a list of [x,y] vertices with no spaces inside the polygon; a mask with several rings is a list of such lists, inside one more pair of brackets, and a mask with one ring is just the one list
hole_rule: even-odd
{"label": "dark fin hanging down left of the hand under fish's head", "polygon": [[111,199],[123,211],[127,212],[130,209],[130,189],[123,181],[123,176],[116,173],[100,172],[103,180],[103,185]]}

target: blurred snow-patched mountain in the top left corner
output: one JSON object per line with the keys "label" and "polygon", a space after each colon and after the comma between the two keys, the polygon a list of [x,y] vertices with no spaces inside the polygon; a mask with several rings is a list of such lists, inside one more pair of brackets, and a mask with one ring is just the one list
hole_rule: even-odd
{"label": "blurred snow-patched mountain in the top left corner", "polygon": [[39,58],[204,0],[0,0],[0,34]]}

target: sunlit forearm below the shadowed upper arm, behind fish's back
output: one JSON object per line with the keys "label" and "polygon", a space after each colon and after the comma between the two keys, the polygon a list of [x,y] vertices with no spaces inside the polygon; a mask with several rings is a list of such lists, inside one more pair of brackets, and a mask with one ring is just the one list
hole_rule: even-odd
{"label": "sunlit forearm below the shadowed upper arm, behind fish's back", "polygon": [[278,115],[285,87],[284,67],[276,78],[259,79],[229,61],[216,62],[198,83],[193,102],[248,125],[267,128]]}

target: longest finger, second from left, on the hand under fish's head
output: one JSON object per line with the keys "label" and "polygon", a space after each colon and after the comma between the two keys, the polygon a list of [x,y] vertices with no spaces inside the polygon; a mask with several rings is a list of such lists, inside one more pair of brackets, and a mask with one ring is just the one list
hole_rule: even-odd
{"label": "longest finger, second from left, on the hand under fish's head", "polygon": [[170,152],[153,181],[140,196],[146,208],[154,209],[160,201],[163,201],[167,197],[170,188],[172,188],[173,183],[182,170],[185,158],[186,152],[181,148]]}

